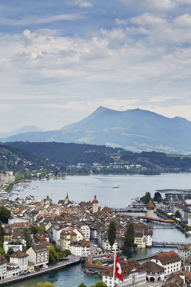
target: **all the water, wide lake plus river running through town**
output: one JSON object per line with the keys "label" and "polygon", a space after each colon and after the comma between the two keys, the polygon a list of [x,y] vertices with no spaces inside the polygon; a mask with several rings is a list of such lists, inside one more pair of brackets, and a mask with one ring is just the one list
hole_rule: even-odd
{"label": "all the water, wide lake plus river running through town", "polygon": [[[113,185],[119,185],[113,189]],[[32,189],[33,185],[38,186]],[[144,195],[146,191],[154,195],[155,189],[190,189],[191,174],[166,174],[160,176],[140,176],[140,175],[74,175],[67,176],[65,179],[54,181],[35,180],[29,183],[31,189],[25,189],[19,195],[10,197],[14,200],[21,196],[25,198],[28,195],[34,195],[35,199],[46,197],[47,194],[52,198],[54,203],[64,199],[68,191],[70,200],[74,202],[88,201],[97,195],[99,205],[111,207],[126,206],[131,202],[131,197]],[[133,212],[131,213],[133,214]],[[136,213],[137,214],[137,213]],[[141,213],[142,215],[143,213]],[[157,215],[155,215],[158,217]],[[185,235],[178,228],[160,228],[152,227],[154,241],[172,241],[191,243],[191,237]],[[133,252],[125,253],[127,258],[141,258],[154,254],[160,250],[170,251],[173,247],[151,247],[139,249]],[[177,252],[177,249],[174,248]],[[84,274],[84,263],[77,263],[74,266],[68,266],[58,271],[52,271],[45,275],[35,276],[32,279],[22,280],[11,284],[11,287],[34,287],[37,282],[52,282],[56,287],[77,287],[82,281],[87,286],[95,284],[101,280],[99,275]]]}

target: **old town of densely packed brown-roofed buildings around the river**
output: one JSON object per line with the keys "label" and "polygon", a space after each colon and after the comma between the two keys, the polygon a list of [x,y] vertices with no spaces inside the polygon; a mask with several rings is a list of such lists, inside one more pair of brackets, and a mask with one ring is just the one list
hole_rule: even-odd
{"label": "old town of densely packed brown-roofed buildings around the river", "polygon": [[[8,176],[13,175],[9,172]],[[8,180],[11,181],[11,178],[7,182]],[[28,184],[22,182],[18,185],[26,187]],[[159,196],[160,193],[157,192]],[[179,195],[183,193],[182,190],[160,192],[165,193],[169,201],[166,216],[175,213],[177,215],[179,212],[180,218],[190,226],[189,191],[185,191],[188,199]],[[100,274],[108,287],[112,287],[114,283],[116,286],[130,287],[150,281],[159,282],[164,287],[169,286],[168,284],[173,287],[190,286],[191,244],[178,243],[178,254],[174,250],[160,251],[145,257],[144,263],[133,258],[127,259],[123,255],[124,251],[131,249],[165,245],[166,243],[153,241],[153,231],[149,224],[155,222],[159,226],[172,226],[175,224],[174,220],[180,219],[155,218],[154,211],[160,209],[156,209],[151,200],[145,205],[147,215],[136,216],[117,213],[107,206],[101,208],[96,195],[92,201],[77,203],[69,199],[67,192],[66,197],[59,200],[58,204],[53,203],[48,195],[42,199],[35,199],[33,195],[24,199],[17,197],[15,201],[9,198],[7,192],[1,191],[0,284],[82,261],[84,272]],[[138,202],[144,205],[140,198]],[[167,208],[166,205],[164,207]],[[110,238],[112,226],[113,234],[116,234],[113,243]],[[132,228],[133,241],[128,246],[127,237],[131,237],[128,232]],[[113,277],[113,265],[109,262],[114,260],[114,245],[121,254],[122,281]],[[177,243],[172,245],[177,246]]]}

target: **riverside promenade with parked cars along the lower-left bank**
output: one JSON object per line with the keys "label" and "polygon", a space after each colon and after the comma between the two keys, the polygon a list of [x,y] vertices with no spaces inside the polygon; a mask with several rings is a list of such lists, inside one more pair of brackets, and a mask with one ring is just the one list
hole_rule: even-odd
{"label": "riverside promenade with parked cars along the lower-left bank", "polygon": [[[61,262],[55,263],[53,265],[48,265],[47,269],[40,270],[38,272],[32,272],[30,274],[26,274],[23,276],[14,276],[14,277],[6,278],[4,280],[0,280],[0,285],[11,284],[15,281],[29,279],[31,277],[42,275],[42,274],[45,274],[47,272],[54,271],[56,269],[64,268],[70,264],[76,264],[78,261],[80,261],[80,256],[72,256],[71,255],[71,256],[68,256],[67,261],[63,261],[63,262],[61,261]],[[39,279],[39,281],[40,281],[40,279]]]}

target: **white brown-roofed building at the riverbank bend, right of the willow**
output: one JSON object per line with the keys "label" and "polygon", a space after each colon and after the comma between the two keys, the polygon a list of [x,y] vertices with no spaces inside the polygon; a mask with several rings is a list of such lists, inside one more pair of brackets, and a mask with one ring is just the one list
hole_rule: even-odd
{"label": "white brown-roofed building at the riverbank bend, right of the willow", "polygon": [[73,241],[70,243],[70,252],[74,255],[81,256],[83,254],[90,255],[91,244],[85,239]]}

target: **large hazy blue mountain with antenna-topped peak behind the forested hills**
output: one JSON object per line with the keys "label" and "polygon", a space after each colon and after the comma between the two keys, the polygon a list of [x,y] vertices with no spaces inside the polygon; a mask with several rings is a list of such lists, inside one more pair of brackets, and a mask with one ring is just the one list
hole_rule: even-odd
{"label": "large hazy blue mountain with antenna-topped peak behind the forested hills", "polygon": [[75,142],[120,147],[141,152],[191,153],[191,122],[134,109],[116,111],[99,107],[81,121],[59,130],[28,132],[0,139],[30,142]]}

